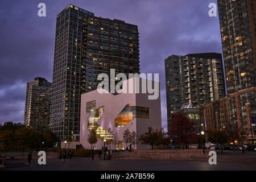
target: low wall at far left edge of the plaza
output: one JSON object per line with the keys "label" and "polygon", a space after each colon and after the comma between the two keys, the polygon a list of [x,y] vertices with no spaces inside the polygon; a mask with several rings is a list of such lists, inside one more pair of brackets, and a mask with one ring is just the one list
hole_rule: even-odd
{"label": "low wall at far left edge of the plaza", "polygon": [[[31,152],[32,159],[38,159],[40,156],[38,152]],[[26,159],[27,160],[28,152],[6,152],[0,153],[0,158],[7,159]],[[59,159],[59,153],[56,152],[46,152],[46,159]]]}

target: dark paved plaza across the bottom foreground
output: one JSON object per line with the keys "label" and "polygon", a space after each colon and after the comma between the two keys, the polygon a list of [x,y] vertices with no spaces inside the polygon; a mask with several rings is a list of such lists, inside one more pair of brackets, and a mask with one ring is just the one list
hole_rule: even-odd
{"label": "dark paved plaza across the bottom foreground", "polygon": [[216,171],[216,170],[254,170],[255,164],[221,163],[209,165],[208,162],[167,161],[167,160],[92,160],[91,158],[47,159],[47,164],[40,166],[32,160],[28,166],[26,160],[6,160],[6,171],[40,170],[79,170],[79,171]]}

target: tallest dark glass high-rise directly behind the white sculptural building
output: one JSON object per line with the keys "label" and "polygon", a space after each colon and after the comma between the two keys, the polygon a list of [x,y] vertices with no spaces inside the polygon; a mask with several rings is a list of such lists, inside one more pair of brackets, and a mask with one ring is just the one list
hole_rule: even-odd
{"label": "tallest dark glass high-rise directly behind the white sculptural building", "polygon": [[80,132],[81,94],[97,89],[100,73],[139,73],[138,26],[68,5],[57,15],[51,131],[59,141]]}

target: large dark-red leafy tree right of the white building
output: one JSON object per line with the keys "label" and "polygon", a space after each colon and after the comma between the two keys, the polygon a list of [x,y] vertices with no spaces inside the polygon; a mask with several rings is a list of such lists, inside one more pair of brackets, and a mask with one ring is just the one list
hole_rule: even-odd
{"label": "large dark-red leafy tree right of the white building", "polygon": [[196,140],[195,123],[189,121],[184,114],[173,114],[171,119],[170,137],[184,148],[185,145]]}

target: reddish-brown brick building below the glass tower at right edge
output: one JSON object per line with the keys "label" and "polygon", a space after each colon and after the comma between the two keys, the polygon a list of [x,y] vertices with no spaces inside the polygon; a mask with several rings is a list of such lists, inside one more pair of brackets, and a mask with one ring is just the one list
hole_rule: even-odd
{"label": "reddish-brown brick building below the glass tower at right edge", "polygon": [[238,132],[243,133],[246,143],[251,143],[253,133],[256,144],[256,129],[251,127],[250,118],[250,115],[256,114],[255,107],[252,107],[256,106],[255,98],[256,88],[251,87],[201,107],[200,118],[203,130],[225,130],[227,127],[236,127]]}

